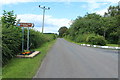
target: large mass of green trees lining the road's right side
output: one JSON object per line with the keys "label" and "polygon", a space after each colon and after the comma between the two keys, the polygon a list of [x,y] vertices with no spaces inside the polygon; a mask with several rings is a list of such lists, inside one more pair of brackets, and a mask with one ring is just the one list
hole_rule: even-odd
{"label": "large mass of green trees lining the road's right side", "polygon": [[[94,36],[92,40],[90,35]],[[110,6],[104,16],[96,13],[87,13],[84,17],[78,17],[74,20],[68,29],[67,38],[76,42],[90,42],[103,40],[107,43],[117,44],[120,35],[120,7]],[[96,36],[96,37],[95,37]],[[87,40],[89,37],[89,40]],[[98,39],[97,39],[98,38]],[[90,40],[91,39],[91,40]],[[106,39],[106,41],[104,41]],[[99,42],[97,42],[99,43]],[[99,43],[100,45],[100,43]],[[102,44],[103,45],[103,44]]]}

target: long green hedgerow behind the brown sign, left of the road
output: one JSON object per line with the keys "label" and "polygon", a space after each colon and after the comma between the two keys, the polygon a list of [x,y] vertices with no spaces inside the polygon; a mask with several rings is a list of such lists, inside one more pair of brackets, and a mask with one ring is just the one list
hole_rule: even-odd
{"label": "long green hedgerow behind the brown sign, left of the road", "polygon": [[[12,18],[12,20],[11,20]],[[12,12],[4,12],[2,20],[2,64],[3,66],[9,62],[10,59],[21,53],[22,47],[22,29],[16,27],[15,23],[16,16]],[[52,34],[47,36],[39,31],[30,29],[30,49],[38,48],[45,42],[55,39]],[[26,50],[27,45],[27,28],[24,30],[24,49]]]}

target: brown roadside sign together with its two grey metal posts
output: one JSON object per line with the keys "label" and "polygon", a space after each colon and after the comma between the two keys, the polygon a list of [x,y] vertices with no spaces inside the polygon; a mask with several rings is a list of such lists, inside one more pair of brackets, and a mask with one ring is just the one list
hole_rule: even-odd
{"label": "brown roadside sign together with its two grey metal posts", "polygon": [[17,24],[18,27],[22,27],[22,52],[24,52],[24,27],[28,28],[28,33],[27,33],[27,50],[29,50],[29,35],[30,35],[30,31],[29,31],[29,27],[34,27],[33,23],[18,23]]}

